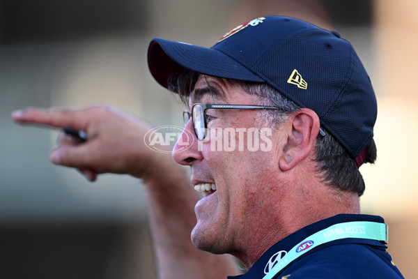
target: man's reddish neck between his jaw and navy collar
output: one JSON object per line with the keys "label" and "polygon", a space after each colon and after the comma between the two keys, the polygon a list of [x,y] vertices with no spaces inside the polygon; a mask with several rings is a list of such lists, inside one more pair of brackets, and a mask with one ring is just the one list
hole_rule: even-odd
{"label": "man's reddish neck between his jaw and navy collar", "polygon": [[289,188],[282,185],[277,188],[278,193],[274,193],[276,197],[281,197],[279,203],[274,199],[274,202],[266,206],[263,201],[264,211],[258,211],[258,219],[252,220],[252,229],[247,229],[247,237],[242,238],[244,241],[241,249],[231,252],[247,269],[268,248],[307,225],[341,213],[360,213],[356,193],[336,190],[323,183],[308,185],[307,188],[297,187],[295,183]]}

